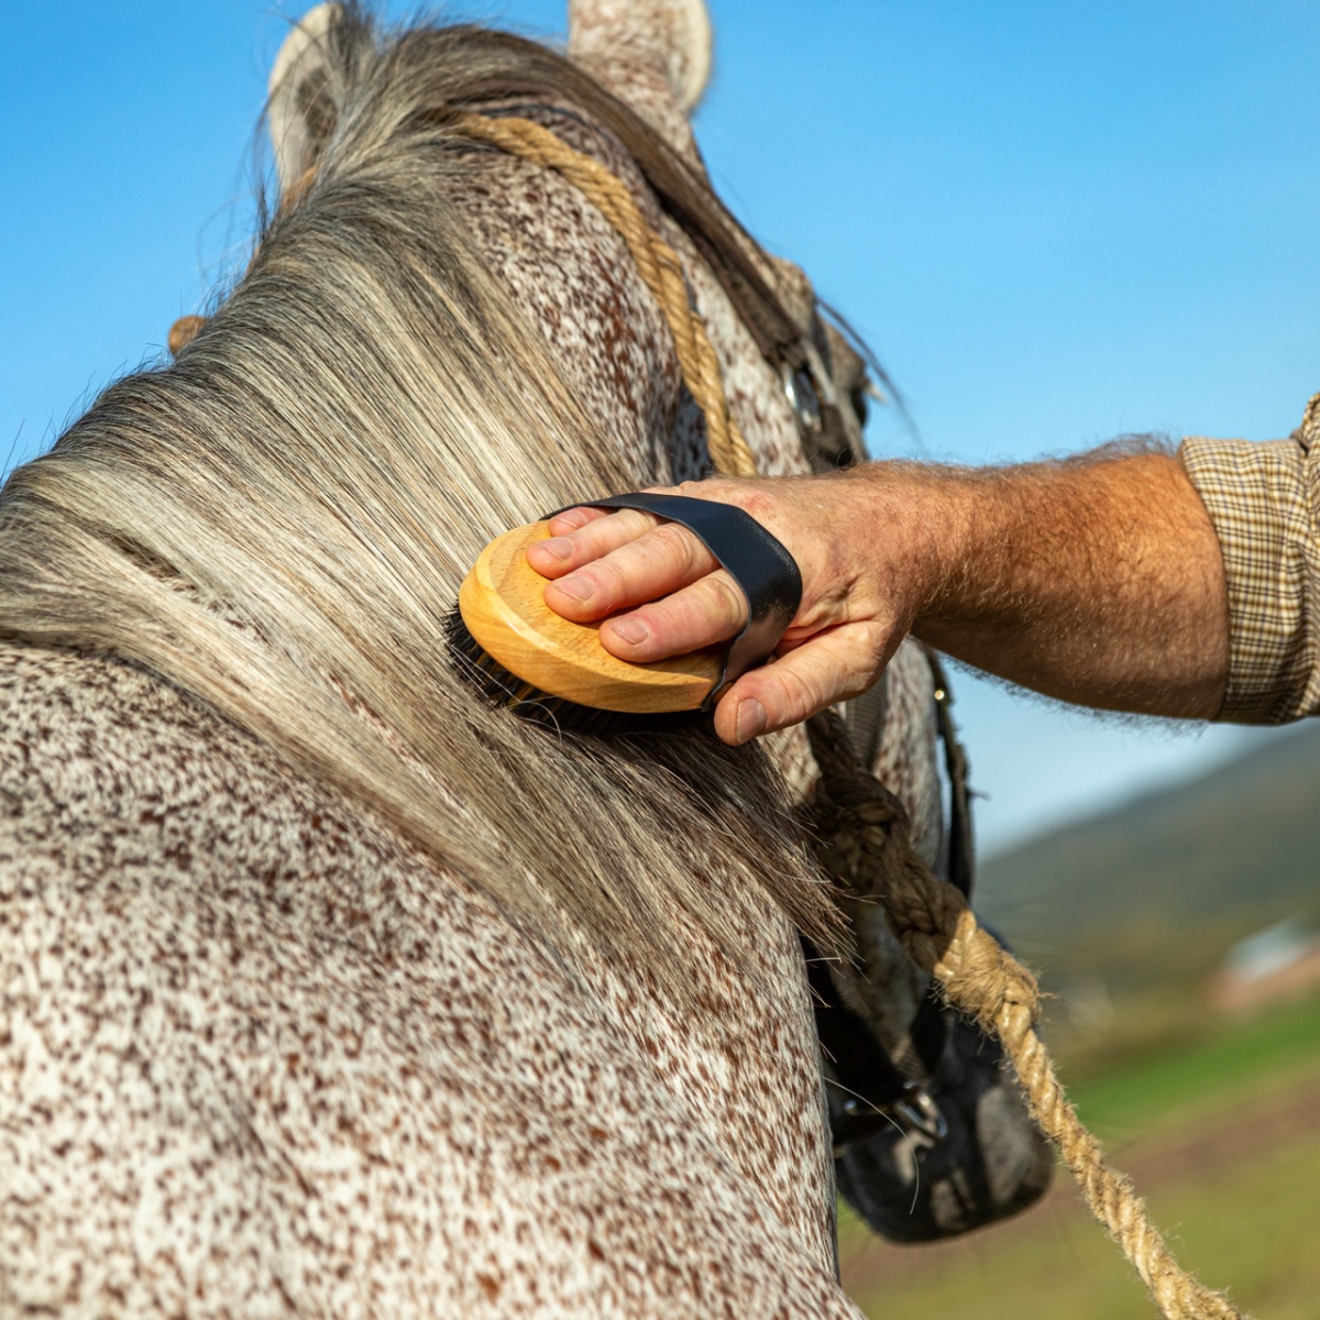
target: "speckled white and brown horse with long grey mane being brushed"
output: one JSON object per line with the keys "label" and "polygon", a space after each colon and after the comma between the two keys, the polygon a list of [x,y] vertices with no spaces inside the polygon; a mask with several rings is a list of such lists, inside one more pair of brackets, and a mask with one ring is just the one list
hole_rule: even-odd
{"label": "speckled white and brown horse with long grey mane being brushed", "polygon": [[[857,1313],[805,735],[556,734],[446,651],[492,536],[709,469],[619,235],[463,115],[627,186],[759,471],[810,470],[804,384],[859,445],[862,360],[805,276],[735,261],[830,359],[793,393],[614,131],[704,183],[700,0],[569,17],[560,57],[313,11],[247,272],[0,494],[3,1315]],[[906,644],[867,756],[939,869],[935,693]],[[895,1043],[927,981],[891,945],[857,993]],[[1039,1164],[1005,1122],[1001,1201]]]}

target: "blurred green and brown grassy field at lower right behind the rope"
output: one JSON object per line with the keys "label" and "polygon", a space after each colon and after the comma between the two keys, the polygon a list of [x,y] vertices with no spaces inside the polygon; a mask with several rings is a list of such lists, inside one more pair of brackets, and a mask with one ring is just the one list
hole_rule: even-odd
{"label": "blurred green and brown grassy field at lower right behind the rope", "polygon": [[[1138,1191],[1185,1267],[1228,1288],[1255,1320],[1320,1316],[1320,999],[1224,1023],[1177,1052],[1078,1085],[1074,1100],[1115,1163],[1131,1158]],[[1059,1183],[1065,1177],[1060,1171]],[[1154,1316],[1076,1201],[1064,1187],[1016,1224],[937,1247],[888,1246],[850,1220],[845,1284],[876,1320]]]}

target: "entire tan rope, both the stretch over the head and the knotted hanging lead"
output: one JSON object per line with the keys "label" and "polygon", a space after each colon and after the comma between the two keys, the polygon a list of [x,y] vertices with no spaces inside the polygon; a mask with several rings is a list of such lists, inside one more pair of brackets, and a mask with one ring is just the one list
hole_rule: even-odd
{"label": "entire tan rope, both the stretch over the head and the knotted hanging lead", "polygon": [[[755,458],[729,414],[719,360],[693,310],[678,256],[647,223],[624,183],[531,120],[463,115],[459,127],[511,156],[558,172],[615,227],[669,322],[684,381],[706,417],[715,471],[754,477]],[[1243,1320],[1222,1294],[1177,1265],[1129,1177],[1106,1164],[1100,1142],[1068,1102],[1036,1034],[1036,978],[977,924],[962,894],[916,854],[902,804],[858,768],[838,715],[817,715],[809,731],[822,779],[814,809],[817,859],[843,895],[879,898],[890,929],[945,1001],[1001,1040],[1032,1118],[1167,1320]]]}

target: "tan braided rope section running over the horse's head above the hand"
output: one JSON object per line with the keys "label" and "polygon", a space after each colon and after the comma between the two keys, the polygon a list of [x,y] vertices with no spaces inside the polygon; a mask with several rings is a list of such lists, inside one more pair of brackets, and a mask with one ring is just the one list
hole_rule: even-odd
{"label": "tan braided rope section running over the horse's head above the hand", "polygon": [[647,222],[623,181],[529,119],[462,115],[458,125],[469,137],[562,174],[614,226],[669,325],[684,383],[706,418],[710,462],[722,475],[755,477],[756,459],[730,416],[719,359],[692,306],[678,253]]}

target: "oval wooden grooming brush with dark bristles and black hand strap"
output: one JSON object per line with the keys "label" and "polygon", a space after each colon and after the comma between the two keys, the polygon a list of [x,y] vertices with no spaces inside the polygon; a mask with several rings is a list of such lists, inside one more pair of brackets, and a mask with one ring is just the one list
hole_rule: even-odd
{"label": "oval wooden grooming brush with dark bristles and black hand strap", "polygon": [[546,579],[525,552],[549,536],[552,513],[482,550],[449,619],[455,664],[495,705],[577,733],[655,727],[709,710],[729,682],[770,657],[797,612],[803,586],[792,556],[733,504],[651,494],[586,503],[689,528],[747,598],[747,627],[727,645],[649,664],[619,660],[601,644],[598,623],[574,623],[545,603]]}

